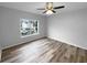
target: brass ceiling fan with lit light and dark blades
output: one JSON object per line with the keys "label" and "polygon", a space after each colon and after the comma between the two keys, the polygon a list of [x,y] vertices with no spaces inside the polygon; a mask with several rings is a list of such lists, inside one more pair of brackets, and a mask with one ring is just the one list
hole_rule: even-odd
{"label": "brass ceiling fan with lit light and dark blades", "polygon": [[45,10],[43,13],[46,14],[52,14],[52,13],[56,13],[56,9],[63,9],[65,8],[65,6],[59,6],[59,7],[53,7],[53,2],[46,2],[45,8],[40,8],[37,10]]}

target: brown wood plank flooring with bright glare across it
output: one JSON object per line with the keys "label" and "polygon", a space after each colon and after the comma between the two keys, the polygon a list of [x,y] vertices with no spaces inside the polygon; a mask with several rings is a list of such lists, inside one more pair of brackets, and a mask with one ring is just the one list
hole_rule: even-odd
{"label": "brown wood plank flooring with bright glare across it", "polygon": [[41,39],[2,51],[2,63],[87,63],[87,51]]}

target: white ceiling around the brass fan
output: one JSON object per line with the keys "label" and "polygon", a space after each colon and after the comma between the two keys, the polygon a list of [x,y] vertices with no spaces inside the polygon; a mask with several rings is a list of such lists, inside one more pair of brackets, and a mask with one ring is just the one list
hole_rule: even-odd
{"label": "white ceiling around the brass fan", "polygon": [[[36,14],[43,14],[43,10],[36,10],[37,8],[44,8],[45,2],[0,2],[0,6],[18,9],[26,12],[32,12]],[[54,2],[54,7],[65,6],[64,9],[55,10],[57,13],[59,12],[68,12],[78,9],[87,8],[87,2]]]}

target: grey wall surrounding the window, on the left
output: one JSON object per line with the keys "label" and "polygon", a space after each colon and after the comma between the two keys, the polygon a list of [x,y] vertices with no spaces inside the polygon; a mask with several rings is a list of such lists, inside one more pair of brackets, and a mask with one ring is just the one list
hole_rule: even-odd
{"label": "grey wall surrounding the window, on the left", "polygon": [[[3,7],[0,7],[0,44],[2,48],[46,36],[45,17]],[[40,34],[32,35],[29,37],[21,37],[20,18],[40,20]]]}

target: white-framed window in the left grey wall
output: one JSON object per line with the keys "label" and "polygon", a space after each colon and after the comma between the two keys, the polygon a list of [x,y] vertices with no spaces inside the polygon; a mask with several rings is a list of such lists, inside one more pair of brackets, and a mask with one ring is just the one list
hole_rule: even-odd
{"label": "white-framed window in the left grey wall", "polygon": [[39,33],[39,21],[21,19],[21,35],[33,35]]}

